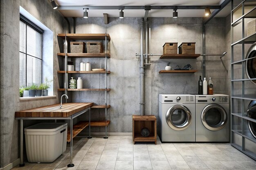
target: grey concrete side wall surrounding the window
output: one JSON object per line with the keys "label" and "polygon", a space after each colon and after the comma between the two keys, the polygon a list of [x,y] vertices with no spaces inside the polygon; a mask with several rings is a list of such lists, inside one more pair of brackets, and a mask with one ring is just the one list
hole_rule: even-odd
{"label": "grey concrete side wall surrounding the window", "polygon": [[[1,41],[1,99],[3,108],[3,130],[1,136],[3,141],[1,145],[4,148],[1,152],[0,167],[15,161],[19,157],[19,138],[18,138],[18,121],[15,120],[15,111],[46,106],[58,103],[58,97],[54,99],[40,99],[33,101],[19,100],[19,7],[23,7],[37,20],[54,32],[54,50],[53,53],[59,52],[56,34],[63,32],[64,20],[59,11],[53,10],[48,0],[1,0],[1,23],[3,23],[3,40]],[[54,94],[57,94],[58,77],[57,69],[58,60],[54,57]],[[31,124],[30,122],[29,124]]]}

